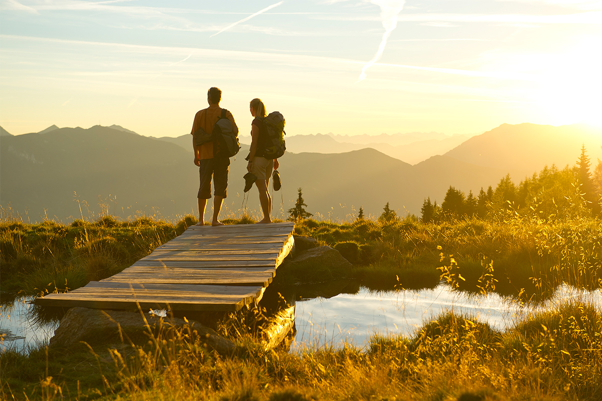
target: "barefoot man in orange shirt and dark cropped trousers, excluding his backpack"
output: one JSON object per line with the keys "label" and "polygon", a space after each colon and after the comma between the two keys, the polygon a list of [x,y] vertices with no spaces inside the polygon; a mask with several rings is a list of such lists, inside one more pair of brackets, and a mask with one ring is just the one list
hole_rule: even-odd
{"label": "barefoot man in orange shirt and dark cropped trousers, excluding his backpack", "polygon": [[[194,133],[202,128],[205,132],[211,133],[213,126],[222,115],[220,108],[220,100],[222,100],[222,91],[218,88],[209,88],[207,91],[207,102],[209,107],[202,109],[194,116],[192,124],[193,136],[192,145],[194,149],[194,164],[199,166],[200,186],[197,200],[199,203],[199,222],[196,225],[205,224],[205,206],[207,200],[211,198],[211,177],[213,176],[213,220],[211,225],[223,225],[219,221],[220,209],[222,202],[226,197],[226,187],[228,187],[228,166],[230,159],[228,156],[220,153],[217,142],[208,141],[197,145],[194,140]],[[238,127],[234,122],[232,113],[226,111],[226,117],[232,123],[232,130],[235,135],[238,135]]]}

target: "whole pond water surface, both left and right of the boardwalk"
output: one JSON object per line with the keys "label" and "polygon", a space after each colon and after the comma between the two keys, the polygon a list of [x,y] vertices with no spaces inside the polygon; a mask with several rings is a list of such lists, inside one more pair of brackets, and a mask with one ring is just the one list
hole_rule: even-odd
{"label": "whole pond water surface, both left and right of the boardwalk", "polygon": [[[355,291],[353,291],[355,292]],[[471,295],[450,290],[443,284],[435,289],[376,292],[359,287],[353,294],[340,293],[300,299],[296,302],[297,333],[291,351],[344,341],[364,347],[371,335],[403,334],[411,336],[424,320],[445,311],[477,316],[497,329],[538,308],[550,308],[563,299],[582,298],[602,305],[602,290],[584,292],[560,286],[554,297],[537,306],[524,306],[492,293]],[[58,327],[58,319],[42,316],[31,298],[17,298],[13,304],[0,306],[0,350],[16,349],[27,353],[29,347],[48,344]]]}

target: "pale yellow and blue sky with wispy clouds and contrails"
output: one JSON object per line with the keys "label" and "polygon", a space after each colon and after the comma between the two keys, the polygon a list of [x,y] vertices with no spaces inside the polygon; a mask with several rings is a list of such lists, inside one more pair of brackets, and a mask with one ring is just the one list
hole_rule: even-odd
{"label": "pale yellow and blue sky with wispy clouds and contrails", "polygon": [[[0,0],[0,126],[190,133],[206,91],[287,134],[602,125],[601,0]],[[247,134],[248,135],[248,134]]]}

